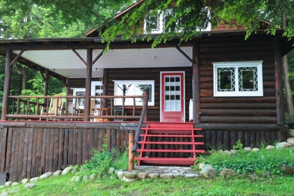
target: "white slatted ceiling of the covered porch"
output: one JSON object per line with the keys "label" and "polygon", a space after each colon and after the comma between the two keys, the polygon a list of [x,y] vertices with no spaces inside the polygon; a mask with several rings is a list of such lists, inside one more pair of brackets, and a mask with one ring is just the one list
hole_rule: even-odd
{"label": "white slatted ceiling of the covered porch", "polygon": [[[181,47],[192,58],[192,47]],[[77,49],[86,61],[87,50]],[[93,60],[102,49],[93,50]],[[15,50],[18,54],[20,50]],[[86,77],[86,66],[71,49],[26,50],[22,57],[64,77]],[[154,58],[155,57],[155,58]],[[93,65],[92,77],[101,77],[103,68],[188,67],[191,62],[176,48],[110,49]]]}

